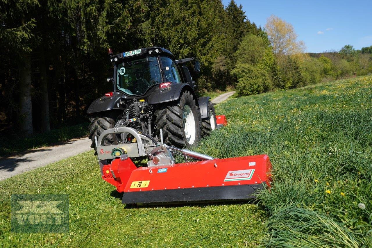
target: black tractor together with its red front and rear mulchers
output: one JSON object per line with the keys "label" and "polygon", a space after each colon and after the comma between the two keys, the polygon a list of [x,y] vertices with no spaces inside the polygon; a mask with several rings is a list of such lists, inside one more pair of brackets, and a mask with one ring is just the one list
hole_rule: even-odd
{"label": "black tractor together with its red front and rear mulchers", "polygon": [[[187,67],[199,73],[196,58],[175,60],[161,47],[109,54],[113,91],[90,105],[89,138],[102,179],[122,193],[122,203],[248,200],[270,187],[267,155],[219,159],[186,149],[227,125],[208,96],[196,95]],[[132,160],[146,157],[147,165]]]}

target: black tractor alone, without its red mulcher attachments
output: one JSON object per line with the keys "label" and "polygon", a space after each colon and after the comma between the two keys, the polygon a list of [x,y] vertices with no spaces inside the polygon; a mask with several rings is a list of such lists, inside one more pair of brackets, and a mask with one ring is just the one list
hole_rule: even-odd
{"label": "black tractor alone, without its red mulcher attachments", "polygon": [[[88,108],[91,147],[108,128],[132,127],[154,141],[190,147],[216,128],[214,106],[208,96],[197,97],[188,65],[200,72],[196,58],[176,60],[161,47],[140,48],[112,55],[113,92],[96,99]],[[136,142],[130,134],[110,134],[103,144]],[[97,152],[97,151],[96,151]],[[96,153],[95,153],[96,154]]]}

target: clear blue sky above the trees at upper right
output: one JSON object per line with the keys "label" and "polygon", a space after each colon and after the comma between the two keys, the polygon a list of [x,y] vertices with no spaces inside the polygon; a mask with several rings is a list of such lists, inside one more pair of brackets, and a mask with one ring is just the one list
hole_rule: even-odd
{"label": "clear blue sky above the trees at upper right", "polygon": [[[229,2],[222,0],[225,6]],[[257,26],[263,27],[272,14],[291,23],[310,53],[340,50],[347,44],[356,49],[372,45],[372,0],[235,2]]]}

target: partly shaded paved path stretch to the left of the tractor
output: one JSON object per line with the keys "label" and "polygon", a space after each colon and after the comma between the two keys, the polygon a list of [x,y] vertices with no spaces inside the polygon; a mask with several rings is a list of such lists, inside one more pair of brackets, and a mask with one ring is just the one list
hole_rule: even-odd
{"label": "partly shaded paved path stretch to the left of the tractor", "polygon": [[35,150],[27,150],[15,156],[0,159],[0,181],[14,175],[57,162],[90,148],[91,141],[87,137],[73,139],[55,146],[41,147]]}

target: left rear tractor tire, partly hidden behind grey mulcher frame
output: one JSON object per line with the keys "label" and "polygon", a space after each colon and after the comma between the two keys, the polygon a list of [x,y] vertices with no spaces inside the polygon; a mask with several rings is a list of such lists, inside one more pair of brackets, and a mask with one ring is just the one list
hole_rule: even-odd
{"label": "left rear tractor tire, partly hidden behind grey mulcher frame", "polygon": [[[89,139],[92,140],[92,144],[90,145],[90,147],[94,149],[94,155],[97,155],[96,140],[94,139],[94,137],[97,137],[98,139],[103,131],[109,128],[113,128],[115,126],[116,120],[110,117],[103,116],[94,116],[89,120]],[[103,141],[103,145],[110,146],[112,144],[117,144],[116,137],[113,134],[109,134]]]}

